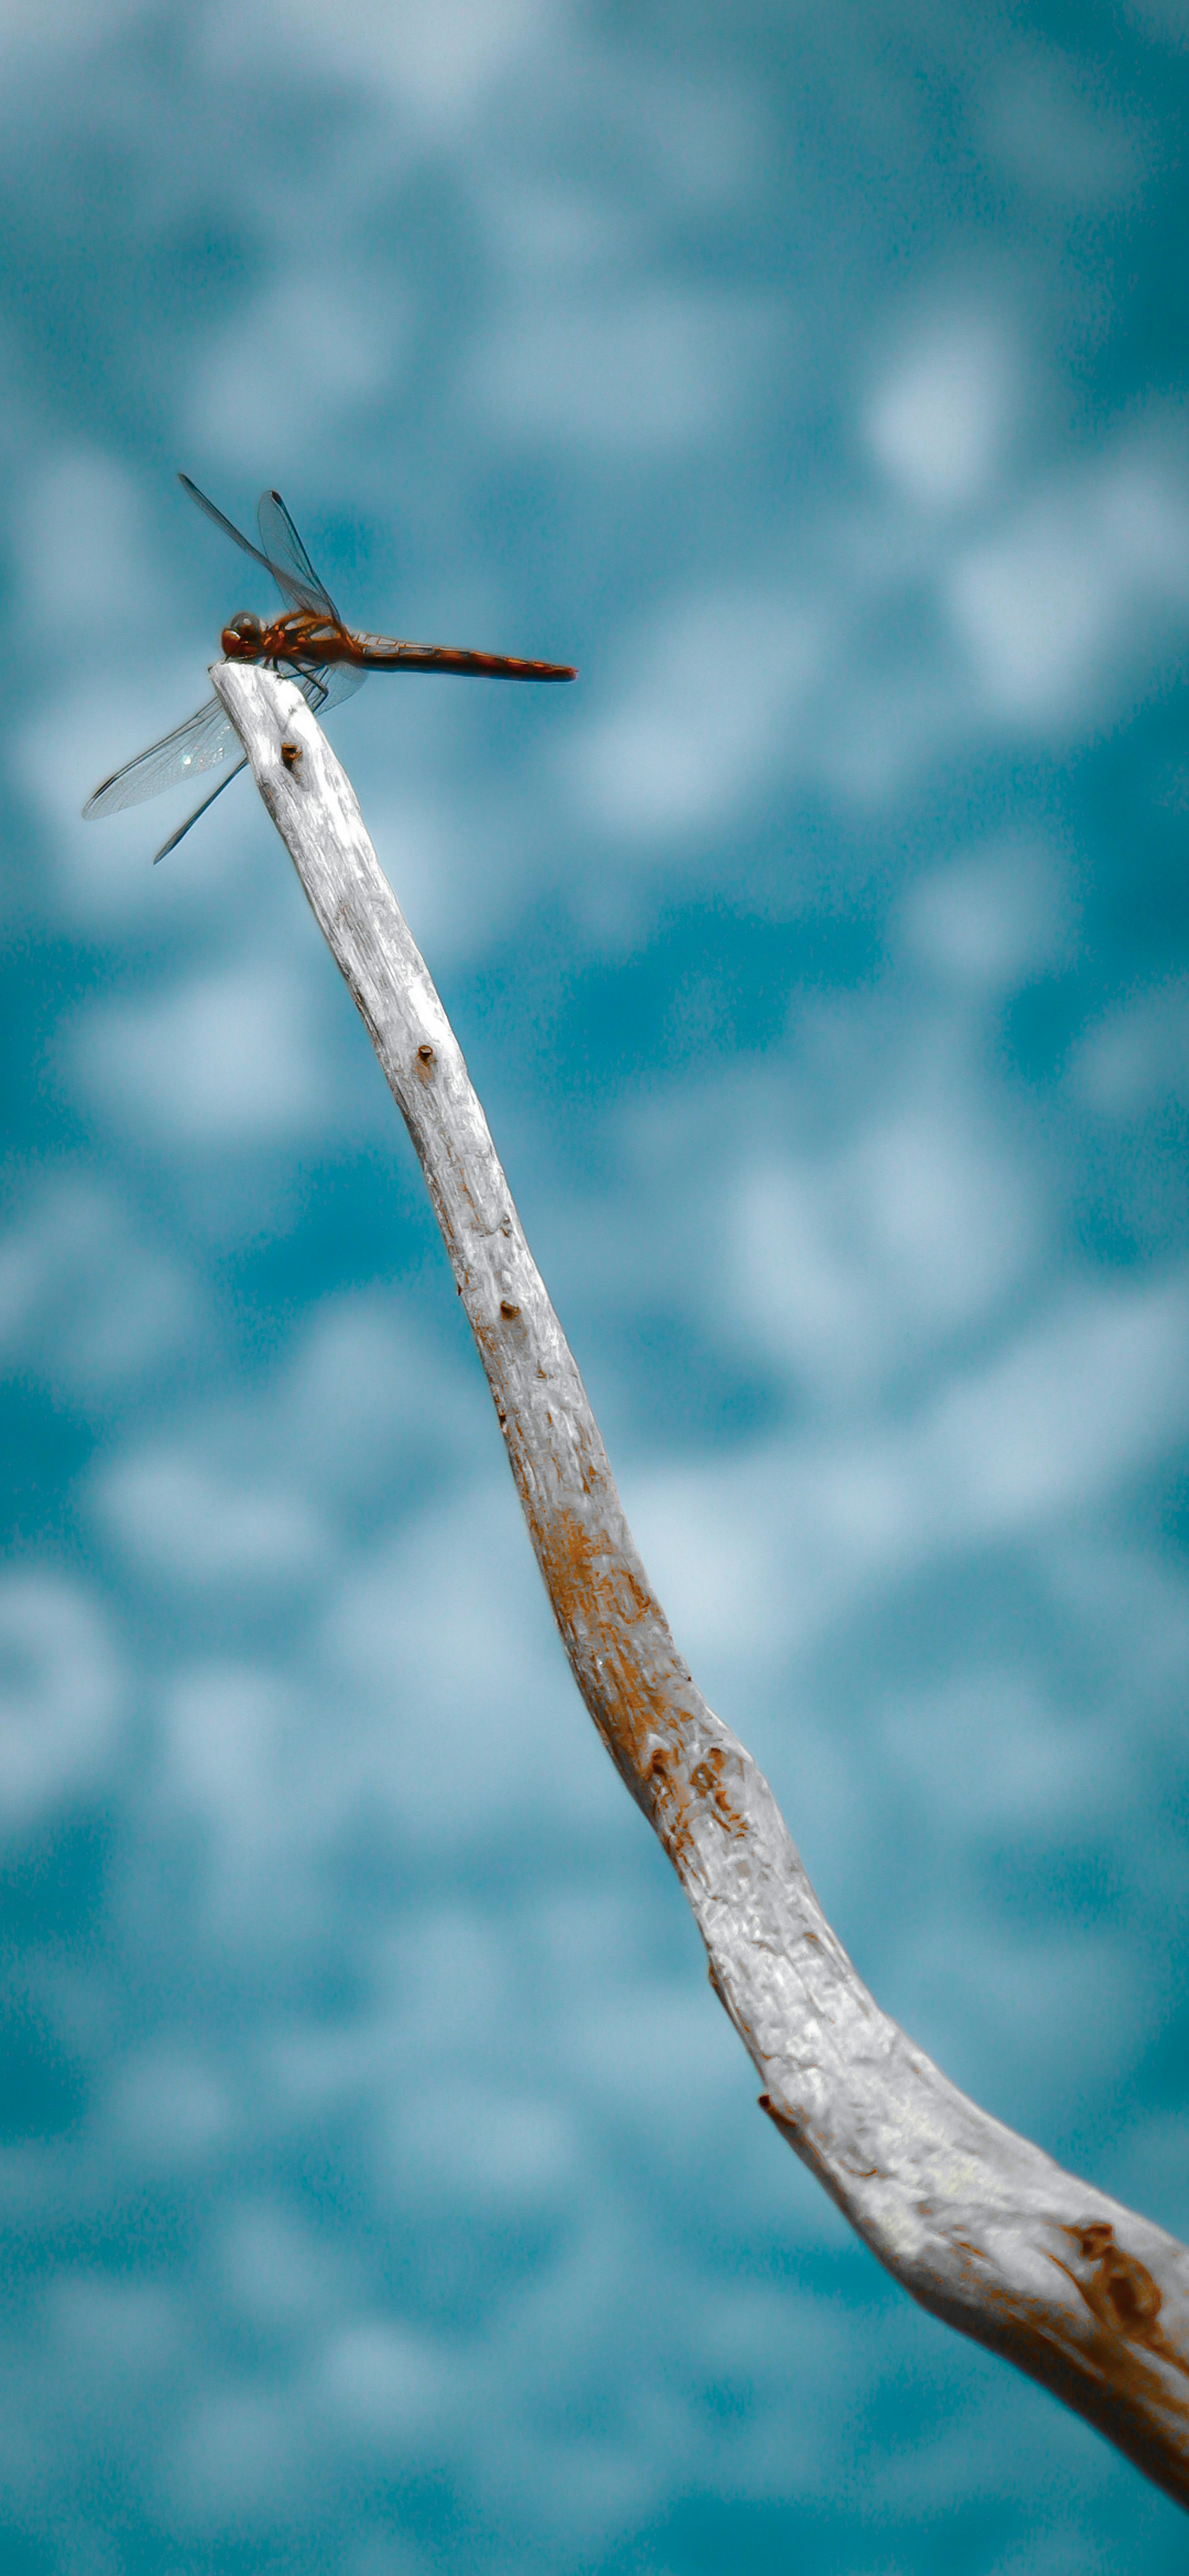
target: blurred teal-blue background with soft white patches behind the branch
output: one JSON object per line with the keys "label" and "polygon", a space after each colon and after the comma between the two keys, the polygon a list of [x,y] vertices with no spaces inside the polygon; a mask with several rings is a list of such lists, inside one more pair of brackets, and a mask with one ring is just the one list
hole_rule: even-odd
{"label": "blurred teal-blue background with soft white patches behind the branch", "polygon": [[1184,2519],[754,2107],[239,781],[268,585],[677,1638],[880,2002],[1189,2233],[1181,0],[0,15],[13,2576]]}

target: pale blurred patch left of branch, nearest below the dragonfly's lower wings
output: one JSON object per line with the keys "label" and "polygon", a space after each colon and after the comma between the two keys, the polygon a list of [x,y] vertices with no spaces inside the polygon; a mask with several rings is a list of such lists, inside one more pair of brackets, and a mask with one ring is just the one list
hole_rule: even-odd
{"label": "pale blurred patch left of branch, nearest below the dragonfly's lower wings", "polygon": [[314,979],[226,966],[149,1002],[88,1010],[75,1036],[85,1092],[162,1144],[255,1146],[322,1133],[335,1079]]}

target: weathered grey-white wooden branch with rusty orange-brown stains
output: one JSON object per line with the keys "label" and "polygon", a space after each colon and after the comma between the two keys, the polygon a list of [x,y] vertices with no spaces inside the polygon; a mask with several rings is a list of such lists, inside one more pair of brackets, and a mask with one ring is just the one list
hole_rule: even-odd
{"label": "weathered grey-white wooden branch with rusty orange-brown stains", "polygon": [[288,680],[226,662],[211,677],[414,1141],[574,1680],[682,1880],[762,2110],[911,2298],[1189,2504],[1189,2251],[978,2110],[862,1986],[767,1780],[669,1636],[350,781]]}

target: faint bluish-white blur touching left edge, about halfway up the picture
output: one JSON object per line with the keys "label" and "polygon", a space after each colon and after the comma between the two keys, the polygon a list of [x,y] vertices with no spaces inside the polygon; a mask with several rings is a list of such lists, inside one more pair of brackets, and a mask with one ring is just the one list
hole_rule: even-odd
{"label": "faint bluish-white blur touching left edge, about halfway up the picture", "polygon": [[196,1314],[193,1278],[98,1182],[49,1180],[0,1239],[0,1350],[51,1386],[126,1386]]}

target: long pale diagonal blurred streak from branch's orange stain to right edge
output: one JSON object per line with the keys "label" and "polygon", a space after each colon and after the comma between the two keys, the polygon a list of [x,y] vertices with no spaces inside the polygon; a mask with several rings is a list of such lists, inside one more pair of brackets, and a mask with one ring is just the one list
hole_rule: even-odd
{"label": "long pale diagonal blurred streak from branch's orange stain to right edge", "polygon": [[636,1479],[685,1654],[767,1669],[916,1566],[1091,1520],[1189,1432],[1189,1285],[1081,1291],[901,1419]]}

